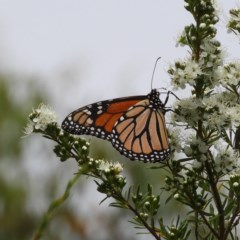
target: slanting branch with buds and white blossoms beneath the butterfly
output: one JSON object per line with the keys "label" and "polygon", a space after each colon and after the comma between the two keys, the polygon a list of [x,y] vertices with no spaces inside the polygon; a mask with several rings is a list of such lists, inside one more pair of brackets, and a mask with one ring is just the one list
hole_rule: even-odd
{"label": "slanting branch with buds and white blossoms beneath the butterfly", "polygon": [[[115,202],[110,205],[130,210],[135,215],[132,223],[140,229],[148,230],[155,239],[161,240],[162,238],[168,239],[169,236],[184,237],[189,235],[185,221],[178,221],[176,226],[167,227],[164,226],[163,220],[160,218],[158,220],[159,227],[156,227],[156,217],[160,208],[160,195],[154,196],[150,185],[148,186],[148,192],[145,194],[140,191],[140,188],[137,191],[129,188],[124,193],[126,179],[120,174],[123,170],[122,166],[119,163],[90,158],[88,156],[89,143],[84,139],[63,132],[56,119],[56,114],[51,112],[49,107],[41,104],[30,114],[25,133],[40,133],[45,138],[54,141],[56,143],[54,152],[61,161],[69,158],[75,159],[79,164],[78,176],[87,175],[93,177],[97,184],[97,190],[106,195],[103,201],[110,197],[115,199]],[[74,181],[75,183],[76,181]],[[71,184],[70,188],[74,184]],[[70,188],[67,188],[63,197],[51,203],[47,214],[43,217],[42,224],[36,231],[34,239],[39,239],[42,236],[49,223],[52,211],[63,204],[69,195]]]}

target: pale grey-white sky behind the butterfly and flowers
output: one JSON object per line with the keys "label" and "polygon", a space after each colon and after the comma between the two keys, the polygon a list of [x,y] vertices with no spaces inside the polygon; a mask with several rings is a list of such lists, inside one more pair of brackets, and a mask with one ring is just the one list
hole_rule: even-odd
{"label": "pale grey-white sky behind the butterfly and flowers", "polygon": [[[217,2],[218,38],[228,60],[236,59],[239,39],[227,34],[225,25],[228,10],[239,1]],[[176,39],[192,22],[183,5],[183,0],[0,0],[0,70],[38,79],[39,87],[52,95],[60,120],[91,102],[147,94],[159,56],[153,86],[171,89],[168,65],[187,56],[186,48],[176,48]],[[38,141],[28,157],[36,155]],[[42,158],[30,158],[32,175],[48,168],[62,173],[68,164]],[[86,191],[92,196],[95,185]],[[102,196],[89,198],[86,206],[105,210],[98,206]]]}

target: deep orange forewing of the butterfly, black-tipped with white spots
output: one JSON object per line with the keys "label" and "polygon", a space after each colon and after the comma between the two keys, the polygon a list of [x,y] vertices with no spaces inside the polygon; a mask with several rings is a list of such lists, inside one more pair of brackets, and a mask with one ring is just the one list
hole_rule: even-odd
{"label": "deep orange forewing of the butterfly, black-tipped with white spots", "polygon": [[116,121],[143,97],[116,98],[79,108],[65,118],[62,128],[72,134],[86,134],[109,140]]}

